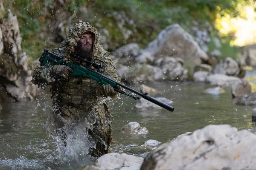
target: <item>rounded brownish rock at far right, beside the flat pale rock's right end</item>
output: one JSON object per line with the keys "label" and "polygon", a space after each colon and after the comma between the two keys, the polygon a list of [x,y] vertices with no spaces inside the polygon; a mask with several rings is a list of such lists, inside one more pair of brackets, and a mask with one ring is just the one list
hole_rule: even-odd
{"label": "rounded brownish rock at far right, beside the flat pale rock's right end", "polygon": [[242,79],[241,82],[236,82],[231,86],[231,93],[233,98],[241,97],[245,94],[250,94],[252,92],[251,85],[246,78]]}

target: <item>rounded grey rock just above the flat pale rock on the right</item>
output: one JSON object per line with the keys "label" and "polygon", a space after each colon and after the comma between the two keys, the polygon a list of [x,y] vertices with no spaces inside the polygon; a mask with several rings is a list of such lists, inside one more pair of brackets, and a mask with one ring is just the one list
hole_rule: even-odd
{"label": "rounded grey rock just above the flat pale rock on the right", "polygon": [[214,70],[214,74],[225,74],[227,76],[238,76],[240,72],[239,64],[231,57],[227,57],[219,62]]}

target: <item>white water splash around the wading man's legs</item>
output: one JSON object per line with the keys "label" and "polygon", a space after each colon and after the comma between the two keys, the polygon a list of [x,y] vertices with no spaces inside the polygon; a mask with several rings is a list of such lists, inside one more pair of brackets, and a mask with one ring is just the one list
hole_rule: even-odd
{"label": "white water splash around the wading man's legs", "polygon": [[[62,166],[70,166],[79,168],[86,164],[93,164],[96,158],[88,155],[91,147],[95,146],[95,142],[88,135],[88,130],[85,122],[80,122],[78,125],[69,125],[63,128],[56,128],[53,123],[53,111],[49,111],[49,116],[46,123],[46,128],[49,136],[54,139],[56,144],[56,158]],[[60,115],[57,115],[60,116]],[[62,132],[61,134],[59,132]],[[63,134],[68,134],[67,136]]]}

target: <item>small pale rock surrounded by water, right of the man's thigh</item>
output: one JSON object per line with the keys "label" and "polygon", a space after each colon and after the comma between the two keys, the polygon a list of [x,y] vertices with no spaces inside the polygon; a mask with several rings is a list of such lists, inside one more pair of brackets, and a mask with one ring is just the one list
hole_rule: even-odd
{"label": "small pale rock surrounded by water, right of the man's thigh", "polygon": [[148,134],[146,127],[140,127],[138,122],[130,122],[122,128],[122,132],[131,135],[143,135]]}

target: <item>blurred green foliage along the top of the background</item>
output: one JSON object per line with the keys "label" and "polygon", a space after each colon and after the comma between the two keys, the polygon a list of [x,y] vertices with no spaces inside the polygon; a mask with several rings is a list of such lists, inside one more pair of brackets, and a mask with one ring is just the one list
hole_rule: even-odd
{"label": "blurred green foliage along the top of the background", "polygon": [[[45,45],[44,40],[38,39],[38,33],[47,29],[49,20],[55,11],[60,8],[57,0],[4,0],[4,7],[10,8],[17,15],[20,24],[20,33],[23,38],[23,48],[30,54],[41,53]],[[238,4],[246,5],[247,0],[65,0],[62,9],[67,10],[67,16],[71,16],[80,7],[86,7],[88,12],[84,18],[92,24],[101,23],[110,31],[113,41],[124,45],[122,32],[113,18],[108,14],[124,11],[129,19],[136,24],[137,33],[131,37],[131,41],[138,42],[141,47],[148,45],[158,33],[166,26],[174,23],[180,24],[189,31],[193,20],[209,21],[214,27],[216,14],[229,13],[231,17],[239,14]],[[79,11],[81,12],[81,11]],[[109,26],[112,23],[113,26]],[[125,27],[133,29],[133,26],[125,23]],[[210,44],[211,46],[211,44]],[[224,44],[225,48],[228,48]],[[212,49],[213,47],[210,47]],[[224,49],[223,49],[224,50]],[[230,50],[224,50],[231,53]]]}

